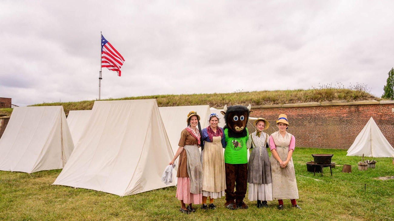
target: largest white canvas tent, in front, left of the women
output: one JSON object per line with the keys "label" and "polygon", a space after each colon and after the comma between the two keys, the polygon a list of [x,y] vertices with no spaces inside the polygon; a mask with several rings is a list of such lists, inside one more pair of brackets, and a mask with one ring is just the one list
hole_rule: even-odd
{"label": "largest white canvas tent, in front, left of the women", "polygon": [[141,193],[167,186],[161,176],[173,157],[155,99],[95,101],[54,184],[119,196]]}

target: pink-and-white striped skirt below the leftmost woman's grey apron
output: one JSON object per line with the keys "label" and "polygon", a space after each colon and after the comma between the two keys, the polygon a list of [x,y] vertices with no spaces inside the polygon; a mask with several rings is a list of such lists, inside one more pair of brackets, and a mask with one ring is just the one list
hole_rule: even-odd
{"label": "pink-and-white striped skirt below the leftmost woman's grey apron", "polygon": [[185,204],[201,204],[203,200],[203,194],[190,193],[190,179],[189,177],[178,177],[177,199],[183,200]]}

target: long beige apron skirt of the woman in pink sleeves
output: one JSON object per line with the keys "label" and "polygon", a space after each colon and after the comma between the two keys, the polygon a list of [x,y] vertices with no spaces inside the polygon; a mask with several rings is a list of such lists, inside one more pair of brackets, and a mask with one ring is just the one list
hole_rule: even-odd
{"label": "long beige apron skirt of the woman in pink sleeves", "polygon": [[[276,147],[276,151],[285,161],[289,147]],[[296,172],[294,171],[293,158],[285,168],[271,155],[272,196],[273,199],[298,199]]]}

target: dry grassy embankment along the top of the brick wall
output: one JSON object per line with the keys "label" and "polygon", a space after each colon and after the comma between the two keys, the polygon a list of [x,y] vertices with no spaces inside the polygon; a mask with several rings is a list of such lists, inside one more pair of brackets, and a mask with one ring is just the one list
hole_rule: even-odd
{"label": "dry grassy embankment along the top of the brick wall", "polygon": [[[252,92],[214,93],[214,94],[165,94],[151,96],[136,96],[126,98],[110,98],[103,100],[135,100],[156,99],[159,107],[210,105],[223,107],[224,105],[277,105],[286,103],[307,103],[325,101],[366,101],[381,100],[363,90],[346,88],[321,88],[297,90],[263,90]],[[94,100],[77,102],[40,103],[31,106],[63,106],[65,113],[70,110],[91,110]],[[1,114],[1,110],[0,110]],[[10,113],[9,113],[10,114]]]}

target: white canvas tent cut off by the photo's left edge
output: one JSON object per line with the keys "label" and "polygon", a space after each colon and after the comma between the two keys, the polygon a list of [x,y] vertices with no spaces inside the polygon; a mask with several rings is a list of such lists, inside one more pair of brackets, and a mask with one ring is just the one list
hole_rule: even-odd
{"label": "white canvas tent cut off by the photo's left edge", "polygon": [[0,139],[0,170],[61,169],[72,149],[62,106],[15,107]]}

